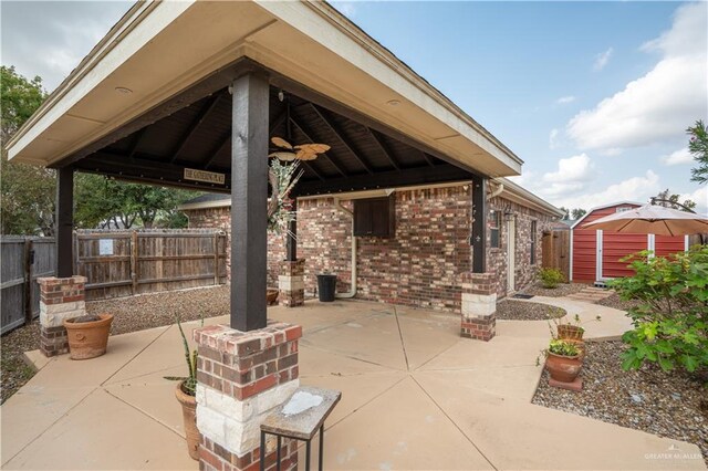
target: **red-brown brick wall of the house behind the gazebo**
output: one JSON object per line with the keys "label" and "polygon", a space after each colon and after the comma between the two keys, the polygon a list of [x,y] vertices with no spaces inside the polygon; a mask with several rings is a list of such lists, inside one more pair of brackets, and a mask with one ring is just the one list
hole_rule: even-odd
{"label": "red-brown brick wall of the house behind the gazebo", "polygon": [[[471,186],[396,191],[396,237],[358,238],[357,299],[459,312],[461,274],[471,270],[469,236]],[[352,208],[351,201],[343,201]],[[546,214],[493,198],[490,209],[516,217],[517,290],[533,280],[541,261],[541,234],[552,223]],[[190,210],[192,228],[229,229],[229,209]],[[537,265],[530,264],[531,221],[537,220]],[[337,291],[350,290],[352,218],[332,198],[298,202],[298,258],[305,259],[305,292],[312,295],[316,273],[335,272]],[[496,273],[498,296],[507,293],[507,221],[499,249],[488,249],[488,271]],[[489,243],[489,232],[487,234]],[[278,286],[284,259],[280,236],[269,237],[269,284]],[[227,263],[229,263],[227,261]]]}

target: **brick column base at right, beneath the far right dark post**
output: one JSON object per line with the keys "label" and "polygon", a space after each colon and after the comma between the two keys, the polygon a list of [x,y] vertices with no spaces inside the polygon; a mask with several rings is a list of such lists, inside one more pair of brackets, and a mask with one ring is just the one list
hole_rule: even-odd
{"label": "brick column base at right, beneath the far right dark post", "polygon": [[491,341],[497,327],[497,285],[493,273],[462,274],[462,337]]}

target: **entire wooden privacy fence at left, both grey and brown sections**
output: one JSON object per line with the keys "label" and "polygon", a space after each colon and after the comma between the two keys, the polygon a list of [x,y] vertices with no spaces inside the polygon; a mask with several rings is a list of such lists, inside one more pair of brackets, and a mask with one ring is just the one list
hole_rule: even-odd
{"label": "entire wooden privacy fence at left, both grey and brown sections", "polygon": [[[53,276],[53,238],[2,236],[0,332],[40,313],[37,279]],[[77,231],[74,273],[86,300],[226,283],[227,237],[214,230]]]}

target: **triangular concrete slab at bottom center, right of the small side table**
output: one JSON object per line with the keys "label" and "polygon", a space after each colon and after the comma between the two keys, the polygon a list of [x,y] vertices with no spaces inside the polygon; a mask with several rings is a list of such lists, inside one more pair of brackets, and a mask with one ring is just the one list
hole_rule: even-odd
{"label": "triangular concrete slab at bottom center, right of the small side table", "polygon": [[[491,469],[412,378],[333,426],[324,440],[324,469]],[[299,459],[304,469],[303,452]]]}

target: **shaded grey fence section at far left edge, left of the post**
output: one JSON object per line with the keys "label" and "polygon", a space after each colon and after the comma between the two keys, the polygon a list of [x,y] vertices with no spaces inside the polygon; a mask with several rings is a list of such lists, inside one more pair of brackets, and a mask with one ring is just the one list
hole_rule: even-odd
{"label": "shaded grey fence section at far left edge, left of the post", "polygon": [[0,241],[0,333],[40,315],[38,278],[54,274],[54,239],[3,236]]}

